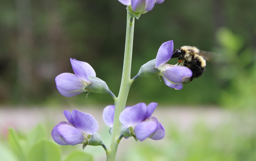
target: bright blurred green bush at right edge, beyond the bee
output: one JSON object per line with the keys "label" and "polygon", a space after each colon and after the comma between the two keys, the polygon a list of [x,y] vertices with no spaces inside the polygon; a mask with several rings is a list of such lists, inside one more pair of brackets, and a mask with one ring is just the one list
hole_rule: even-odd
{"label": "bright blurred green bush at right edge, beyond the bee", "polygon": [[256,107],[256,49],[245,46],[245,40],[227,28],[219,30],[217,39],[223,53],[218,67],[225,86],[220,95],[222,105]]}

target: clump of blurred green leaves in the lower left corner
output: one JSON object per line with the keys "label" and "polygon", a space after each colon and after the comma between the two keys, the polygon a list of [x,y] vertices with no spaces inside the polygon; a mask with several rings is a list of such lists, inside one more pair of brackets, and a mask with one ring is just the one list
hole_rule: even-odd
{"label": "clump of blurred green leaves in the lower left corner", "polygon": [[8,142],[11,149],[0,144],[1,161],[93,161],[92,156],[82,151],[71,151],[61,159],[61,149],[47,139],[43,125],[37,125],[25,138],[9,129]]}

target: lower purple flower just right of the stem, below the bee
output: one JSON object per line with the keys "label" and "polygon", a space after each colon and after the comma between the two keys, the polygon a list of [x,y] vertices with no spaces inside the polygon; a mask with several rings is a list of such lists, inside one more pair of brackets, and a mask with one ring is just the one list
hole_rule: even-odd
{"label": "lower purple flower just right of the stem, below the bee", "polygon": [[155,117],[151,117],[155,111],[157,103],[152,102],[148,106],[145,103],[139,103],[132,107],[127,107],[121,112],[119,121],[129,133],[138,140],[143,141],[146,138],[159,140],[164,138],[164,127]]}

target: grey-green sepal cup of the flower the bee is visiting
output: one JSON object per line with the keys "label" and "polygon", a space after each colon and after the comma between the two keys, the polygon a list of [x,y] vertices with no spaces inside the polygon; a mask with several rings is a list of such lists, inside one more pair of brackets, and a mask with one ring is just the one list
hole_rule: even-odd
{"label": "grey-green sepal cup of the flower the bee is visiting", "polygon": [[155,59],[148,61],[146,64],[141,66],[139,70],[138,76],[139,77],[152,77],[159,75],[161,70],[155,67]]}

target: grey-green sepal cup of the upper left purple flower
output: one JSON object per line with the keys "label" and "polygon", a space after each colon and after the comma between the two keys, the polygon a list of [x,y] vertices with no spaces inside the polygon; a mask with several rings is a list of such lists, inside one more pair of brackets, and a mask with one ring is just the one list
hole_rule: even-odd
{"label": "grey-green sepal cup of the upper left purple flower", "polygon": [[88,76],[89,81],[91,82],[88,84],[84,89],[89,92],[94,93],[109,93],[109,88],[106,82],[101,80],[100,78]]}

